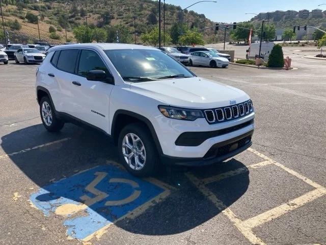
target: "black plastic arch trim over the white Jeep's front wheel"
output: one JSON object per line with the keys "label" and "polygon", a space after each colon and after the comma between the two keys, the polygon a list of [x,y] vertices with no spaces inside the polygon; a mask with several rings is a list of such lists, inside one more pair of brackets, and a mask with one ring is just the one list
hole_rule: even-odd
{"label": "black plastic arch trim over the white Jeep's front wheel", "polygon": [[143,115],[138,113],[127,111],[127,110],[117,110],[113,116],[112,125],[111,125],[111,136],[115,144],[118,143],[118,138],[121,130],[128,124],[132,124],[134,122],[141,122],[150,132],[156,149],[158,153],[163,154],[161,145],[159,143],[157,134],[152,125],[152,122]]}

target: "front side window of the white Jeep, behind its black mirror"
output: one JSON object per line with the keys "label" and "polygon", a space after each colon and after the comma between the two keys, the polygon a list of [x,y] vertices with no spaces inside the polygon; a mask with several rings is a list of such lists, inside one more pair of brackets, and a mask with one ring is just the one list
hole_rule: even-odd
{"label": "front side window of the white Jeep, behind its black mirror", "polygon": [[108,70],[104,62],[96,52],[91,50],[82,50],[82,53],[80,53],[77,74],[86,77],[90,70],[104,70],[106,74],[108,74]]}

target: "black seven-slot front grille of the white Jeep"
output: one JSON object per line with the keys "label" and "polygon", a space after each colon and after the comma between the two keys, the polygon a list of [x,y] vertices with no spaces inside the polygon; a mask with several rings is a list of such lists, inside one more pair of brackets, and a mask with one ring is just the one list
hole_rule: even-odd
{"label": "black seven-slot front grille of the white Jeep", "polygon": [[234,106],[204,110],[204,114],[209,124],[215,124],[246,116],[253,111],[253,102],[249,100]]}

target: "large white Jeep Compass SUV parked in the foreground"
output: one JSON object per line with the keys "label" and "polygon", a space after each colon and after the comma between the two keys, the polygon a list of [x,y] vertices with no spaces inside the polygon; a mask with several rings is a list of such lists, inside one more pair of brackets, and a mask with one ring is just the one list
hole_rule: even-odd
{"label": "large white Jeep Compass SUV parked in the foreground", "polygon": [[52,47],[37,70],[36,95],[48,131],[65,122],[101,130],[137,176],[160,163],[221,162],[252,144],[255,113],[246,93],[198,78],[152,47]]}

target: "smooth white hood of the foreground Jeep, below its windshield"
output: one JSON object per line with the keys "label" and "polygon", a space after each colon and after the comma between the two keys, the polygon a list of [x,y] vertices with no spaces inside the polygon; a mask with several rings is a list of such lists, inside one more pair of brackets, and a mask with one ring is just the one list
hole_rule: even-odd
{"label": "smooth white hood of the foreground Jeep, below its windshield", "polygon": [[194,109],[224,107],[230,101],[250,99],[240,89],[198,77],[131,83],[130,89],[171,106]]}

